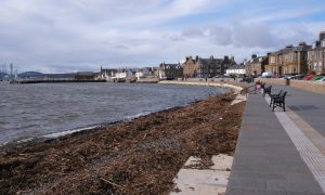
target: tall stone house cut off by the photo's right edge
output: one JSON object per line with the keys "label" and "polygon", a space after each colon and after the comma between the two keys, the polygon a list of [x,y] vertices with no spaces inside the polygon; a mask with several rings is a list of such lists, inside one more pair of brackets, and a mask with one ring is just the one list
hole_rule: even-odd
{"label": "tall stone house cut off by the photo's right edge", "polygon": [[320,34],[320,38],[308,51],[309,72],[315,75],[325,75],[325,31]]}

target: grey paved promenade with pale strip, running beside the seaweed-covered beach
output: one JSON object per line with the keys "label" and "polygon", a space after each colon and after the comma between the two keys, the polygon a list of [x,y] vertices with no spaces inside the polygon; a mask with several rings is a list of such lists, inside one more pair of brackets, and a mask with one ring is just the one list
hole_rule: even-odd
{"label": "grey paved promenade with pale strip, running beside the seaweed-covered beach", "polygon": [[226,194],[324,194],[325,95],[286,86],[287,110],[249,94]]}

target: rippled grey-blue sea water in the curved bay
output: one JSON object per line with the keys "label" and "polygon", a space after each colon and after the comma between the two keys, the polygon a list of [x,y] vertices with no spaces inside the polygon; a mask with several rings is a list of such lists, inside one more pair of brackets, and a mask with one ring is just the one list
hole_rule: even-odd
{"label": "rippled grey-blue sea water in the curved bay", "polygon": [[0,82],[0,145],[132,119],[223,92],[173,84]]}

